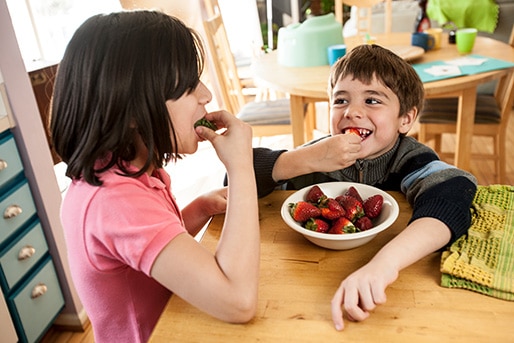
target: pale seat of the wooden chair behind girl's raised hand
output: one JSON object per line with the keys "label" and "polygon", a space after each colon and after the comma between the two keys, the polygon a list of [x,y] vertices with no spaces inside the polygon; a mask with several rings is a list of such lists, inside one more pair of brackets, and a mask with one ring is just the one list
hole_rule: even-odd
{"label": "pale seat of the wooden chair behind girl's raised hand", "polygon": [[291,123],[289,99],[253,101],[245,104],[237,117],[250,125],[287,125]]}

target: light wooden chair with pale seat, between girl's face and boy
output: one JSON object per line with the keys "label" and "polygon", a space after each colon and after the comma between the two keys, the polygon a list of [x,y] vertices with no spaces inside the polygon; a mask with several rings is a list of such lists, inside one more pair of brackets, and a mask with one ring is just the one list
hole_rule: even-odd
{"label": "light wooden chair with pale seat, between girl's face and boy", "polygon": [[209,66],[214,69],[219,98],[225,109],[249,123],[254,136],[290,134],[290,102],[288,98],[263,101],[245,100],[234,55],[230,49],[221,11],[217,1],[201,1],[202,21],[207,40]]}

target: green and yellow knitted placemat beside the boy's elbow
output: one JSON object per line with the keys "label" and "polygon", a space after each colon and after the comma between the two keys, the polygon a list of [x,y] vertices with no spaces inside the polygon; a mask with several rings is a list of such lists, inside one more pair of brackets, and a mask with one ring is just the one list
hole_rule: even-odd
{"label": "green and yellow knitted placemat beside the boy's elbow", "polygon": [[441,257],[441,285],[514,301],[514,186],[478,186],[467,235]]}

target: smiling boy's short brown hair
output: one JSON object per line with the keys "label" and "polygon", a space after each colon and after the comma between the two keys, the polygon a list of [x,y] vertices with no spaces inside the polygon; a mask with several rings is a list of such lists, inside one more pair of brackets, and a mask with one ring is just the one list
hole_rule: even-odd
{"label": "smiling boy's short brown hair", "polygon": [[423,82],[414,68],[391,50],[374,44],[353,48],[331,70],[328,85],[330,97],[337,81],[347,76],[364,84],[370,84],[376,77],[398,97],[400,116],[413,107],[418,109],[418,113],[423,109]]}

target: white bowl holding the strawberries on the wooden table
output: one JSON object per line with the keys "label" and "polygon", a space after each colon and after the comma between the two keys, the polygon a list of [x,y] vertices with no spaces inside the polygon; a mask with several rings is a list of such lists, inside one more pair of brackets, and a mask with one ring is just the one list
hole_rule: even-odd
{"label": "white bowl holding the strawberries on the wooden table", "polygon": [[380,194],[384,198],[382,212],[377,218],[373,219],[373,227],[371,229],[348,234],[330,234],[311,231],[303,228],[300,223],[293,220],[291,214],[289,213],[289,204],[305,200],[305,195],[309,189],[312,188],[312,186],[302,188],[299,191],[291,194],[282,204],[282,209],[280,211],[282,219],[293,230],[301,233],[309,241],[323,248],[333,250],[347,250],[364,245],[371,241],[379,232],[384,231],[389,226],[391,226],[395,222],[396,218],[398,218],[398,214],[400,213],[400,209],[396,200],[388,193],[373,186],[354,182],[326,182],[320,183],[318,186],[328,197],[331,198],[335,198],[338,195],[344,194],[350,186],[354,186],[355,189],[357,189],[363,200],[375,194]]}

